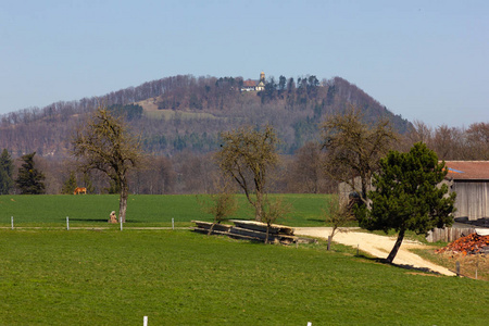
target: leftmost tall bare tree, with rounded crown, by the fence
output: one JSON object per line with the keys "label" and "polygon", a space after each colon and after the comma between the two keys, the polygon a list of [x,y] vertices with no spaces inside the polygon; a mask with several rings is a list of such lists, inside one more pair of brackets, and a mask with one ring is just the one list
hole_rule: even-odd
{"label": "leftmost tall bare tree, with rounded crown, by the fence", "polygon": [[106,174],[121,190],[120,218],[126,221],[129,186],[127,173],[142,161],[139,141],[121,117],[112,116],[106,108],[99,106],[86,125],[76,131],[73,155],[84,171],[98,170]]}

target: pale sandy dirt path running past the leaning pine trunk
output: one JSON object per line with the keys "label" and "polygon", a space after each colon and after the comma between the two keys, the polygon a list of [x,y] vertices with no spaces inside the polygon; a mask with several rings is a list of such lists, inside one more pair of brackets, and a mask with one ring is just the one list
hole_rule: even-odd
{"label": "pale sandy dirt path running past the leaning pine trunk", "polygon": [[[297,236],[310,236],[316,238],[327,239],[331,233],[330,227],[296,227],[294,234]],[[365,251],[374,256],[385,259],[389,254],[390,250],[396,242],[396,238],[387,236],[378,236],[367,233],[359,233],[350,230],[347,233],[337,233],[334,237],[334,241],[351,246],[359,247],[360,250]],[[426,248],[425,244],[404,239],[402,246],[396,255],[393,263],[406,267],[414,267],[421,269],[430,269],[432,272],[454,276],[455,274],[447,269],[446,267],[436,265],[429,261],[426,261],[415,253],[409,251],[412,248]]]}

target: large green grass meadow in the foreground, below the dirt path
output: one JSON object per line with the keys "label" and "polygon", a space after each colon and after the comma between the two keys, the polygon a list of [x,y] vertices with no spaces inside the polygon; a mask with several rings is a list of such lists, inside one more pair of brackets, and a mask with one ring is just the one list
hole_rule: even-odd
{"label": "large green grass meadow in the foreground, below the dirt path", "polygon": [[488,323],[486,281],[334,248],[189,230],[1,229],[0,325]]}

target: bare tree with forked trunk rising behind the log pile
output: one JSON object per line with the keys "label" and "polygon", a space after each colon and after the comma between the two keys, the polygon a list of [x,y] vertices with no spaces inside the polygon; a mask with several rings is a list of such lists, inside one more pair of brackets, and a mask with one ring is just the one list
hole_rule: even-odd
{"label": "bare tree with forked trunk rising behind the log pile", "polygon": [[267,125],[263,130],[241,127],[221,135],[223,145],[216,161],[224,172],[235,179],[254,206],[255,220],[262,220],[267,176],[278,162],[275,130]]}

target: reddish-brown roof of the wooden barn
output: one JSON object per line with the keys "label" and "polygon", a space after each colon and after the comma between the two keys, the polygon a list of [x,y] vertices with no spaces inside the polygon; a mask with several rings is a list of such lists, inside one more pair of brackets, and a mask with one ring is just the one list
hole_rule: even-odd
{"label": "reddish-brown roof of the wooden barn", "polygon": [[488,180],[489,161],[446,161],[447,178],[454,180]]}

